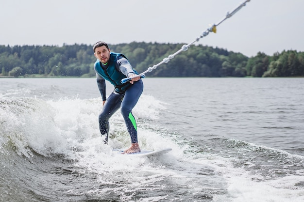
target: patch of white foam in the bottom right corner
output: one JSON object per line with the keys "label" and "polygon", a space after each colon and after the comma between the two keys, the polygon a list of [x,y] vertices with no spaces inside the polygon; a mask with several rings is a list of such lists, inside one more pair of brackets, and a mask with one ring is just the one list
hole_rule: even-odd
{"label": "patch of white foam in the bottom right corner", "polygon": [[232,202],[299,202],[304,201],[304,189],[295,186],[304,176],[289,175],[265,180],[242,168],[229,168],[223,175],[229,186]]}

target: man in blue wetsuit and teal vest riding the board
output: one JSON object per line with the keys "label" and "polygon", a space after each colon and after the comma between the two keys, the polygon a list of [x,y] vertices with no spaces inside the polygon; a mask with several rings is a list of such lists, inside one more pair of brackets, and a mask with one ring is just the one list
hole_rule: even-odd
{"label": "man in blue wetsuit and teal vest riding the board", "polygon": [[[108,142],[109,119],[120,108],[121,114],[131,137],[131,147],[123,154],[140,152],[137,140],[137,126],[132,109],[135,107],[141,93],[143,83],[138,73],[132,68],[128,59],[120,54],[110,52],[110,48],[105,42],[97,42],[93,46],[94,55],[97,61],[94,70],[97,76],[97,85],[103,101],[103,109],[99,115],[99,129],[103,142]],[[122,78],[132,78],[129,82],[122,84]],[[106,99],[105,80],[114,85],[114,91]]]}

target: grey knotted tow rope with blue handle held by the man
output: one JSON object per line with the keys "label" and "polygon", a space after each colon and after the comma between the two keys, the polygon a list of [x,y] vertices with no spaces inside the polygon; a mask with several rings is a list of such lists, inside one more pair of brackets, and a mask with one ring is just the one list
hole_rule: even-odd
{"label": "grey knotted tow rope with blue handle held by the man", "polygon": [[[237,11],[239,11],[243,6],[246,5],[247,2],[249,2],[250,0],[245,0],[243,3],[241,3],[239,6],[236,7],[236,9],[234,9],[231,13],[227,12],[226,16],[220,20],[220,22],[218,22],[217,24],[213,24],[211,25],[209,28],[207,28],[205,31],[203,31],[203,33],[197,37],[193,42],[189,43],[189,44],[185,44],[181,47],[181,49],[179,49],[178,51],[176,51],[174,54],[169,55],[167,58],[164,58],[163,61],[159,62],[158,64],[153,65],[152,67],[149,67],[146,71],[144,71],[143,73],[137,75],[136,77],[141,77],[141,78],[145,78],[145,74],[148,72],[152,72],[153,69],[156,69],[159,65],[163,64],[163,63],[168,63],[171,59],[173,59],[177,54],[179,54],[182,51],[186,51],[188,50],[188,47],[190,47],[191,45],[193,45],[195,42],[198,42],[201,38],[206,37],[209,32],[217,32],[217,26],[219,26],[223,21],[225,21],[226,19],[230,18],[231,16],[235,15]],[[123,78],[121,79],[121,83],[125,83],[129,80],[131,80],[132,78]]]}

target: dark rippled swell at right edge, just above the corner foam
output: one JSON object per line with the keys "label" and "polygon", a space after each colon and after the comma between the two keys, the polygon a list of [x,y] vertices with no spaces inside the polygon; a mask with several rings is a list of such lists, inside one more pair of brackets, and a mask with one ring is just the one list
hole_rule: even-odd
{"label": "dark rippled swell at right edge, just above the corner foam", "polygon": [[222,139],[221,141],[224,143],[225,153],[233,157],[235,167],[242,167],[253,175],[258,173],[259,176],[262,176],[258,180],[269,180],[288,175],[304,176],[303,155],[293,155],[284,150],[242,140]]}

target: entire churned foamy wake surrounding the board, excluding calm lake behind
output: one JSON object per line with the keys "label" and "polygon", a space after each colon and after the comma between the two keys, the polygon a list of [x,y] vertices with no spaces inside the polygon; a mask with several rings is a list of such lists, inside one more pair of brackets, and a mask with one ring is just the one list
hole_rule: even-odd
{"label": "entire churned foamy wake surrounding the board, excluding calm lake behind", "polygon": [[109,145],[102,144],[100,98],[0,98],[0,164],[9,168],[0,171],[1,183],[9,187],[4,192],[17,187],[11,201],[256,201],[257,192],[264,197],[259,201],[273,199],[266,192],[286,201],[301,198],[290,197],[301,194],[301,156],[212,135],[205,141],[189,139],[171,130],[174,125],[161,125],[166,105],[143,95],[134,115],[142,149],[173,151],[161,158],[130,159],[113,151],[130,144],[119,112],[110,119]]}

